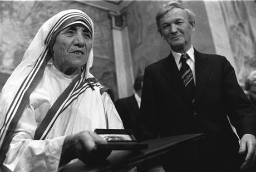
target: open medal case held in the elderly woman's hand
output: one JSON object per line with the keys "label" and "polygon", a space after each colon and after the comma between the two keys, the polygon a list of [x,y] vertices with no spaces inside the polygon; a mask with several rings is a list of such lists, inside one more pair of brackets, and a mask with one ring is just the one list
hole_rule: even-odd
{"label": "open medal case held in the elderly woman's hand", "polygon": [[149,146],[138,143],[130,129],[95,129],[95,133],[107,140],[107,144],[99,144],[99,149],[141,150]]}

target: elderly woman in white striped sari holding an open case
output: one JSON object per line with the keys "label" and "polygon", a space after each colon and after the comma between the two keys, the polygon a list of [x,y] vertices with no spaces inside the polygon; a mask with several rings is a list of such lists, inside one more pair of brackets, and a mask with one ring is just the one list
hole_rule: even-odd
{"label": "elderly woman in white striped sari holding an open case", "polygon": [[123,128],[107,89],[90,73],[93,23],[62,11],[37,32],[4,85],[0,160],[4,171],[57,171],[72,159],[105,158],[95,128]]}

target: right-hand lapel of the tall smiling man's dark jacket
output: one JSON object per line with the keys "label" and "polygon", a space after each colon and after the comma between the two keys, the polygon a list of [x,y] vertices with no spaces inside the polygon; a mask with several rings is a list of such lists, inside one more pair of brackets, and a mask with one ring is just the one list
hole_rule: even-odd
{"label": "right-hand lapel of the tall smiling man's dark jacket", "polygon": [[201,95],[204,92],[207,80],[209,79],[211,62],[204,54],[195,50],[195,102],[200,101]]}

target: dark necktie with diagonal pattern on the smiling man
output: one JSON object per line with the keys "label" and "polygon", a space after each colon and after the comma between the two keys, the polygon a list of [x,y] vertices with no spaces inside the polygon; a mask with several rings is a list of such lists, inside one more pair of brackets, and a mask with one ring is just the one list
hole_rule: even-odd
{"label": "dark necktie with diagonal pattern on the smiling man", "polygon": [[180,68],[180,74],[181,78],[183,80],[183,83],[185,85],[185,88],[187,90],[187,93],[189,94],[190,100],[192,103],[194,103],[195,98],[195,84],[194,84],[194,78],[192,70],[190,69],[189,65],[186,64],[186,60],[189,59],[188,54],[182,54],[180,58],[181,62],[181,68]]}

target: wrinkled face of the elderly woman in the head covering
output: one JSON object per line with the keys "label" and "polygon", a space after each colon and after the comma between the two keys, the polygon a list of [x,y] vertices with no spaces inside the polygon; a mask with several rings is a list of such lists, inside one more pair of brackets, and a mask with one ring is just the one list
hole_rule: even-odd
{"label": "wrinkled face of the elderly woman in the head covering", "polygon": [[62,73],[72,74],[86,64],[91,48],[90,31],[83,26],[69,26],[56,37],[53,64]]}

